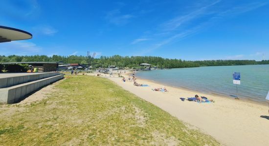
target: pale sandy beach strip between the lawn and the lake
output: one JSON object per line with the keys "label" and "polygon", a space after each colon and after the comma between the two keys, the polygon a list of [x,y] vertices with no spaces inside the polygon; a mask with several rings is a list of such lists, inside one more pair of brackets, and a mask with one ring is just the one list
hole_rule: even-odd
{"label": "pale sandy beach strip between the lawn and the lake", "polygon": [[[126,72],[122,76],[129,75]],[[117,74],[102,74],[102,77],[109,78],[123,89],[176,116],[191,128],[201,129],[223,145],[268,146],[269,144],[268,106],[221,95],[202,94],[198,91],[169,87],[139,78],[138,83],[147,84],[149,87],[137,87],[133,85],[133,82],[123,82],[122,77],[118,77]],[[168,92],[151,90],[164,86]],[[195,94],[214,99],[216,102],[198,103],[179,99],[194,97]]]}

